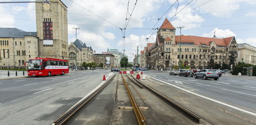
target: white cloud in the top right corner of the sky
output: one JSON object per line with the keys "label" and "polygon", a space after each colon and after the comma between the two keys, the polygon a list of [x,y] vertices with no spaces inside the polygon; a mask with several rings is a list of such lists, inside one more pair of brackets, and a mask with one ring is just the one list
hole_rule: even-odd
{"label": "white cloud in the top right corner of the sky", "polygon": [[[196,6],[200,6],[205,0],[195,1]],[[240,4],[255,4],[255,0],[214,0],[199,7],[199,11],[206,12],[217,17],[229,17],[234,10],[240,9]]]}

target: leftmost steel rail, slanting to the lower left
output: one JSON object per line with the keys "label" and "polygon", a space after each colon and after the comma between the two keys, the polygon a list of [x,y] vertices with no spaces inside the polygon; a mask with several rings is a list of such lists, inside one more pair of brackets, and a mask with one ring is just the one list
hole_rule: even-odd
{"label": "leftmost steel rail, slanting to the lower left", "polygon": [[95,95],[97,95],[99,92],[101,92],[101,90],[103,90],[103,88],[105,88],[115,78],[115,76],[116,76],[116,74],[113,75],[113,77],[111,77],[105,84],[103,84],[101,87],[99,87],[97,90],[95,90],[95,92],[93,92],[92,94],[88,95],[87,98],[85,98],[84,100],[80,101],[80,103],[77,103],[72,108],[70,108],[68,111],[66,111],[64,114],[62,114],[62,116],[60,116],[60,118],[56,119],[53,124],[57,125],[57,124],[64,124],[64,123],[66,123],[67,120],[73,114],[75,114],[78,110],[80,110],[80,108],[82,108],[83,105],[88,103],[88,101],[90,101],[93,97],[95,97]]}

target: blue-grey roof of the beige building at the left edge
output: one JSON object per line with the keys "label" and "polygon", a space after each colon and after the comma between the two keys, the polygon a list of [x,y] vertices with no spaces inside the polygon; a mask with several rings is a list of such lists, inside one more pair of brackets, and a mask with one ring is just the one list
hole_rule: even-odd
{"label": "blue-grey roof of the beige building at the left edge", "polygon": [[19,28],[0,28],[2,38],[22,38],[24,36],[37,37],[37,32],[25,32]]}

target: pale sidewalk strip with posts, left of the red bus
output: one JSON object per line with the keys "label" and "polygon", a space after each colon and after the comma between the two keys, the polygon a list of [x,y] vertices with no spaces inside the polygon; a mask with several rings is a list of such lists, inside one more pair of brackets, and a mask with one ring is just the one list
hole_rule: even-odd
{"label": "pale sidewalk strip with posts, left of the red bus", "polygon": [[4,79],[19,79],[19,78],[24,78],[27,77],[27,71],[17,71],[17,76],[16,76],[16,71],[9,71],[10,76],[8,77],[8,71],[0,71],[0,80]]}

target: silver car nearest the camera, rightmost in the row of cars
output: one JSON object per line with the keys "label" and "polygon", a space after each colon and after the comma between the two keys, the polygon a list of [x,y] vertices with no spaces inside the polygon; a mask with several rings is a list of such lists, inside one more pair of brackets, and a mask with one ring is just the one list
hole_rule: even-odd
{"label": "silver car nearest the camera, rightmost in the row of cars", "polygon": [[218,80],[219,79],[219,72],[217,72],[214,69],[202,69],[199,72],[196,72],[194,74],[194,78],[197,79],[199,77],[203,78],[203,79],[214,79],[214,80]]}

